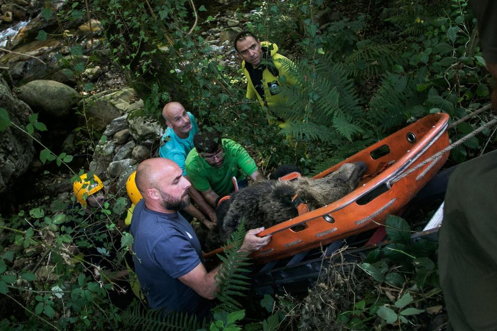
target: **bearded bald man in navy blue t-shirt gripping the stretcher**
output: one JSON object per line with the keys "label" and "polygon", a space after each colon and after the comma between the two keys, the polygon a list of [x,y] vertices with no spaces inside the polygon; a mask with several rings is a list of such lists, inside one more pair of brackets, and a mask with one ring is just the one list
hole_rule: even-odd
{"label": "bearded bald man in navy blue t-shirt gripping the stretcher", "polygon": [[[209,318],[220,266],[207,272],[197,236],[177,212],[189,203],[190,182],[174,162],[152,158],[140,163],[135,183],[143,199],[136,204],[131,221],[133,259],[150,308]],[[240,251],[266,246],[271,236],[256,236],[263,230],[249,230]]]}

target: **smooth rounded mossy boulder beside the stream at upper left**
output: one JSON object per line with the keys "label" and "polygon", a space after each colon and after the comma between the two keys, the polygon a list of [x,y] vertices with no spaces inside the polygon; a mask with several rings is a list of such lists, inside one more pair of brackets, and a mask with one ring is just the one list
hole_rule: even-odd
{"label": "smooth rounded mossy boulder beside the stream at upper left", "polygon": [[81,96],[68,85],[54,80],[33,80],[19,88],[19,99],[35,112],[66,117]]}

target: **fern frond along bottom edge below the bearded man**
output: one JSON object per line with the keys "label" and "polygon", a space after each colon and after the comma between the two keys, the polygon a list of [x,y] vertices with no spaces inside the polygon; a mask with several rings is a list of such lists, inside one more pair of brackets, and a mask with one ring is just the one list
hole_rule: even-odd
{"label": "fern frond along bottom edge below the bearded man", "polygon": [[205,321],[197,321],[195,315],[169,312],[164,316],[163,310],[148,310],[137,301],[121,315],[121,322],[127,330],[190,331],[206,327]]}

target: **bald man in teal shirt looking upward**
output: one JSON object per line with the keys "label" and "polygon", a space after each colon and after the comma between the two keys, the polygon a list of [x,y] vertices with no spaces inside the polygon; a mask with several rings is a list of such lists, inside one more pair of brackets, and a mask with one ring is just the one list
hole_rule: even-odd
{"label": "bald man in teal shirt looking upward", "polygon": [[[183,176],[188,179],[185,160],[194,147],[193,136],[198,132],[197,121],[179,102],[167,103],[162,110],[162,116],[166,121],[167,129],[161,139],[164,144],[159,148],[159,155],[174,161],[183,171]],[[193,186],[188,189],[188,194],[198,208],[191,203],[184,210],[208,228],[213,228],[217,222],[214,209]]]}

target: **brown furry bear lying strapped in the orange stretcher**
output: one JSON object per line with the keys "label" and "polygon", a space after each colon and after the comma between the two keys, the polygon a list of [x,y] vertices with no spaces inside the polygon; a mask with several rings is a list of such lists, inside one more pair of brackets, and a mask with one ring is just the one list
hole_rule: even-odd
{"label": "brown furry bear lying strapped in the orange stretcher", "polygon": [[309,210],[321,208],[354,191],[366,172],[364,162],[346,163],[337,171],[319,179],[301,177],[293,181],[267,180],[231,194],[216,208],[217,227],[207,236],[206,250],[221,247],[245,218],[247,229],[266,229],[298,215],[295,194]]}

